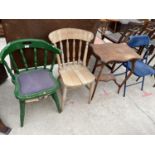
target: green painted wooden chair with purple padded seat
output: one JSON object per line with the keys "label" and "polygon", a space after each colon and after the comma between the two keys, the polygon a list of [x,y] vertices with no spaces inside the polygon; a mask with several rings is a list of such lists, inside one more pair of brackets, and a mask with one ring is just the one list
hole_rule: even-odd
{"label": "green painted wooden chair with purple padded seat", "polygon": [[[27,63],[26,53],[28,50],[31,50],[31,56],[34,57],[33,67],[30,67]],[[43,52],[43,64],[39,65],[38,57],[41,51]],[[23,69],[19,69],[17,61],[15,61],[14,54],[16,53],[20,54]],[[12,82],[15,85],[14,94],[19,99],[21,127],[24,125],[25,103],[31,100],[51,95],[58,112],[62,111],[57,95],[60,83],[52,73],[56,54],[60,53],[61,50],[40,39],[18,39],[8,43],[1,51],[0,63],[4,64],[10,73]],[[51,55],[50,66],[48,65],[49,55]],[[7,56],[10,57],[11,68],[5,60]]]}

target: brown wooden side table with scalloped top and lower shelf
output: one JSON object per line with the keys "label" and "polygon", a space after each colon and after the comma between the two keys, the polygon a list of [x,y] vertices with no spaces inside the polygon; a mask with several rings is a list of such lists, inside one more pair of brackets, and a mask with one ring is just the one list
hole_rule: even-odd
{"label": "brown wooden side table with scalloped top and lower shelf", "polygon": [[[100,71],[96,77],[96,84],[94,88],[94,92],[92,95],[92,98],[95,94],[97,85],[99,81],[110,81],[113,80],[117,86],[118,86],[118,93],[121,89],[121,87],[124,85],[124,83],[129,79],[129,77],[132,75],[132,72],[134,71],[134,64],[137,59],[141,59],[141,56],[136,53],[136,51],[129,47],[126,43],[105,43],[105,44],[91,44],[92,52],[96,56],[96,63],[93,69],[93,73],[95,73],[95,70],[98,66],[100,66]],[[98,65],[98,61],[101,61],[101,64]],[[115,76],[113,74],[104,74],[101,75],[102,70],[105,65],[109,63],[114,62],[126,62],[131,61],[132,63],[132,69],[127,75],[127,78],[125,78],[121,84],[118,84]]]}

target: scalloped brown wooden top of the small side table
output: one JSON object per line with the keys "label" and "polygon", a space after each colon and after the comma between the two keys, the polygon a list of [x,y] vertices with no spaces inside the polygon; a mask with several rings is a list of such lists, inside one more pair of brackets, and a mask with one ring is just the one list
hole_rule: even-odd
{"label": "scalloped brown wooden top of the small side table", "polygon": [[135,49],[129,47],[126,43],[91,44],[90,46],[94,54],[105,64],[141,59]]}

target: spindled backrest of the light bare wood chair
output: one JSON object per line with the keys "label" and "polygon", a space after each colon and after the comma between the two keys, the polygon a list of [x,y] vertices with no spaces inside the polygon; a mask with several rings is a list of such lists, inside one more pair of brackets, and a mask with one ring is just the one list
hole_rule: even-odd
{"label": "spindled backrest of the light bare wood chair", "polygon": [[[78,60],[78,63],[80,62],[81,55],[83,54],[81,50],[83,50],[83,42],[86,42],[86,47],[84,49],[84,58],[83,58],[83,64],[86,64],[87,54],[88,54],[88,43],[93,40],[94,34],[92,32],[76,29],[76,28],[63,28],[56,31],[53,31],[49,34],[49,39],[53,44],[60,43],[60,49],[62,49],[62,42],[66,41],[66,51],[61,54],[62,56],[62,63],[65,63],[65,60],[67,63],[72,62],[75,63]],[[79,42],[79,46],[76,44]],[[64,42],[63,42],[64,43]],[[71,44],[72,43],[72,44]],[[72,51],[71,48],[72,47]],[[78,50],[76,48],[78,47]],[[78,52],[76,54],[76,51]],[[64,60],[64,54],[66,54]],[[71,58],[72,56],[72,58]],[[77,57],[77,58],[76,58]],[[76,60],[77,59],[77,60]]]}

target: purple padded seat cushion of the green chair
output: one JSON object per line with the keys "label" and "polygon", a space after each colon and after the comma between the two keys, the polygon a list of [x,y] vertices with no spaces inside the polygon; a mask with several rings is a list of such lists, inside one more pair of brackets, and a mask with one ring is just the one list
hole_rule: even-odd
{"label": "purple padded seat cushion of the green chair", "polygon": [[45,69],[22,72],[18,76],[18,82],[22,95],[37,93],[55,85],[51,72]]}

